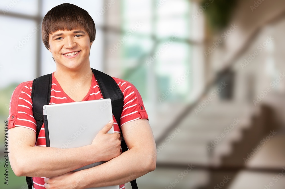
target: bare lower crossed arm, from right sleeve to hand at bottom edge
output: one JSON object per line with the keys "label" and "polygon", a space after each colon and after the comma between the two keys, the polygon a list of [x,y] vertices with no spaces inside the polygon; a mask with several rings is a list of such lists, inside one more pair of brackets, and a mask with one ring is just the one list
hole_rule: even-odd
{"label": "bare lower crossed arm, from right sleeve to hand at bottom edge", "polygon": [[[130,182],[156,167],[156,146],[146,119],[137,119],[122,126],[129,148],[110,161],[74,173],[45,178],[45,188],[92,188]],[[68,185],[69,183],[70,185]]]}

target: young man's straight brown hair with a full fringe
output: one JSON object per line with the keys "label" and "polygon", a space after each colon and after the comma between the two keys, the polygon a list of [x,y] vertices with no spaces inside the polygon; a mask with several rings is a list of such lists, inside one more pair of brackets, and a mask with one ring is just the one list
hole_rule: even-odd
{"label": "young man's straight brown hair with a full fringe", "polygon": [[48,49],[48,35],[58,30],[75,30],[84,28],[88,33],[90,42],[95,40],[95,23],[88,12],[76,5],[63,3],[58,5],[44,16],[42,21],[42,42]]}

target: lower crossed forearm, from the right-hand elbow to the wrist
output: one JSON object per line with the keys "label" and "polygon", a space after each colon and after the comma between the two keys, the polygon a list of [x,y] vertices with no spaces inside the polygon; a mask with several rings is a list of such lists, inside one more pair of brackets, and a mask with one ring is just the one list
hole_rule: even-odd
{"label": "lower crossed forearm, from the right-hand elbow to the wrist", "polygon": [[130,182],[156,166],[156,153],[132,148],[97,167],[78,171],[78,183],[83,188],[120,185]]}

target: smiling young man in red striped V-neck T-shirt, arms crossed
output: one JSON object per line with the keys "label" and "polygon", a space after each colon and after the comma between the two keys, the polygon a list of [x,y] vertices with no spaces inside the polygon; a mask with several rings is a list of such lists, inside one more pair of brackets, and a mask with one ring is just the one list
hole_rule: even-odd
{"label": "smiling young man in red striped V-neck T-shirt, arms crossed", "polygon": [[[95,24],[84,9],[69,3],[52,8],[43,20],[42,40],[56,62],[49,104],[103,98],[89,62]],[[126,182],[153,171],[156,146],[141,96],[131,83],[113,79],[124,95],[121,125],[113,117],[91,145],[62,149],[60,154],[57,148],[45,147],[44,125],[36,141],[32,81],[21,83],[11,97],[8,117],[9,159],[14,173],[33,177],[36,189],[64,189],[113,185],[124,188]],[[76,91],[71,90],[74,86],[78,88]],[[112,125],[115,133],[107,134]],[[119,127],[129,148],[124,153],[121,153]],[[73,172],[98,161],[107,162]]]}

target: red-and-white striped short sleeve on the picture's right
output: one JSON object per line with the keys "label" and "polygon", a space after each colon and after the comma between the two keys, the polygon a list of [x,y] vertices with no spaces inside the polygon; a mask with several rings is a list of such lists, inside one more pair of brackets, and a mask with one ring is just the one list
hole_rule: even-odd
{"label": "red-and-white striped short sleeve on the picture's right", "polygon": [[124,95],[121,126],[136,119],[148,119],[143,100],[136,87],[128,81],[114,78]]}

